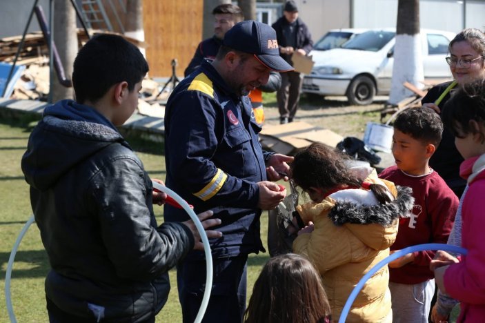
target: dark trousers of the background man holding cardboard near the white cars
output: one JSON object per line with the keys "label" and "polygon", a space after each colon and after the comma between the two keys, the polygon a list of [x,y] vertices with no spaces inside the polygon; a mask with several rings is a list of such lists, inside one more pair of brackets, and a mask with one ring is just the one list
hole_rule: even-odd
{"label": "dark trousers of the background man holding cardboard near the white cars", "polygon": [[281,87],[278,89],[279,116],[293,119],[297,113],[303,77],[299,72],[284,72],[281,74]]}

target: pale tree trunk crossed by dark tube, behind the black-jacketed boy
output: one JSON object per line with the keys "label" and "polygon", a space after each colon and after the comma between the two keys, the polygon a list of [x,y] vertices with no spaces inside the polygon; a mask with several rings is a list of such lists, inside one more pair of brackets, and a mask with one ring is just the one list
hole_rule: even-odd
{"label": "pale tree trunk crossed by dark tube, behind the black-jacketed boy", "polygon": [[[76,11],[70,1],[55,1],[54,3],[54,43],[59,52],[66,79],[71,79],[72,64],[77,54]],[[73,99],[74,90],[59,83],[57,73],[51,70],[52,102],[62,99]]]}

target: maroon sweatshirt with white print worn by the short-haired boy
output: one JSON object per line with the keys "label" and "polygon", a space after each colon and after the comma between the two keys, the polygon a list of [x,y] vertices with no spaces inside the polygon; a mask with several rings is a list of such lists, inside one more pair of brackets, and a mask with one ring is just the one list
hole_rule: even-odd
{"label": "maroon sweatshirt with white print worn by the short-haired boy", "polygon": [[[397,166],[386,168],[379,177],[399,186],[413,188],[415,205],[408,218],[399,221],[396,241],[390,250],[400,250],[408,246],[428,243],[446,244],[458,208],[458,197],[442,177],[433,171],[428,175],[411,176]],[[417,251],[415,260],[401,268],[389,268],[390,282],[417,284],[433,279],[429,270],[435,251]]]}

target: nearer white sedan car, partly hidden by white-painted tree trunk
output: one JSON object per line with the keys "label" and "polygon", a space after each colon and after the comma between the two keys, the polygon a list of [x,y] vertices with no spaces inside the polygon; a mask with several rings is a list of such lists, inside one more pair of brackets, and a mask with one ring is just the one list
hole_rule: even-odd
{"label": "nearer white sedan car, partly hidden by white-painted tree trunk", "polygon": [[[424,78],[451,79],[445,57],[453,32],[424,30],[422,59]],[[303,92],[319,95],[346,95],[350,104],[372,103],[375,95],[388,95],[393,72],[395,29],[368,30],[344,43],[341,48],[313,50],[315,65],[305,75]]]}

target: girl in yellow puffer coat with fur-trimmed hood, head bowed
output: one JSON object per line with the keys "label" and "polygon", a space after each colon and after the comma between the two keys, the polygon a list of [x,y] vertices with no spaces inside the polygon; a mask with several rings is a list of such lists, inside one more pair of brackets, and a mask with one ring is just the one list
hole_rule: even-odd
{"label": "girl in yellow puffer coat with fur-trimmed hood, head bowed", "polygon": [[[374,168],[349,168],[345,157],[311,144],[295,155],[292,179],[313,202],[297,206],[304,226],[293,251],[308,257],[319,271],[334,322],[359,280],[389,255],[399,217],[413,207],[410,188],[377,177]],[[364,285],[346,322],[392,322],[388,267]]]}

